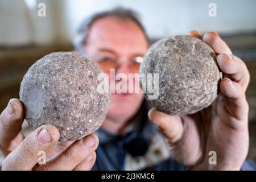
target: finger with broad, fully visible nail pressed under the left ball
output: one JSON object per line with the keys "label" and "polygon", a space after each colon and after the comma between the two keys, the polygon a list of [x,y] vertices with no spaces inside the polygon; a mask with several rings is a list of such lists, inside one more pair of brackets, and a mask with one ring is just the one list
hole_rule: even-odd
{"label": "finger with broad, fully visible nail pressed under the left ball", "polygon": [[59,140],[60,134],[56,127],[43,125],[30,135],[11,152],[2,163],[3,170],[31,170],[39,160],[39,152],[48,152]]}

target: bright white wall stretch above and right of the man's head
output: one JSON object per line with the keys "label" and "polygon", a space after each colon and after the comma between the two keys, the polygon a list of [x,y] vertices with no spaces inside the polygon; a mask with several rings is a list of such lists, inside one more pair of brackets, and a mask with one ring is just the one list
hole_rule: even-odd
{"label": "bright white wall stretch above and right of the man's head", "polygon": [[[75,34],[82,17],[115,6],[137,10],[148,34],[154,38],[185,34],[189,30],[214,30],[222,33],[256,30],[254,0],[65,1],[71,35]],[[211,2],[217,5],[216,17],[208,15]]]}

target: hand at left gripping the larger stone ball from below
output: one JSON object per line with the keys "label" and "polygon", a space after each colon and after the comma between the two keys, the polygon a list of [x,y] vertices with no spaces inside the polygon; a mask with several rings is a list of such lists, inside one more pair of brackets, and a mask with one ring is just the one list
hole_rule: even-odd
{"label": "hand at left gripping the larger stone ball from below", "polygon": [[[57,143],[59,131],[44,125],[26,138],[21,133],[24,121],[22,102],[10,100],[0,116],[0,149],[5,160],[2,170],[90,170],[96,160],[98,138],[92,134],[75,142]],[[39,165],[40,151],[47,163]]]}

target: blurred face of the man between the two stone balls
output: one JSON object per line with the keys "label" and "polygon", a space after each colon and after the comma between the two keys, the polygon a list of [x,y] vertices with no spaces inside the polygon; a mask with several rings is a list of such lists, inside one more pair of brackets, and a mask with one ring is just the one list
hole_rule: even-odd
{"label": "blurred face of the man between the two stone balls", "polygon": [[[86,41],[85,53],[88,56],[119,59],[115,75],[138,73],[131,66],[131,60],[143,57],[148,43],[141,28],[131,20],[119,20],[114,17],[101,18],[93,23]],[[110,67],[98,64],[110,77]],[[117,82],[116,82],[117,83]],[[143,100],[142,93],[112,93],[107,118],[129,119],[137,113]]]}

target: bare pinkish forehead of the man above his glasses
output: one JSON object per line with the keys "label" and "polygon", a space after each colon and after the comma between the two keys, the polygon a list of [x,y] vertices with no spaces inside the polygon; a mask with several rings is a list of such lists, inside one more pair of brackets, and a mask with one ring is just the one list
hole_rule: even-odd
{"label": "bare pinkish forehead of the man above his glasses", "polygon": [[114,17],[98,19],[90,27],[87,44],[102,46],[147,47],[144,33],[132,20],[121,20]]}

